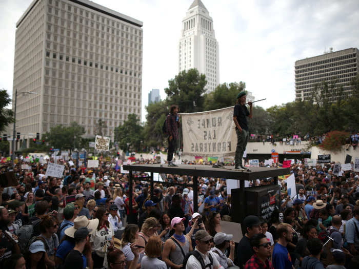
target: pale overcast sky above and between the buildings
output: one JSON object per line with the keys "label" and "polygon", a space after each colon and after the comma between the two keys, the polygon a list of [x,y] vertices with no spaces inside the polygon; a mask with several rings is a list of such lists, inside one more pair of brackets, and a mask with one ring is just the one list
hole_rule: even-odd
{"label": "pale overcast sky above and between the buildings", "polygon": [[[0,0],[0,88],[12,96],[15,24],[31,0]],[[144,23],[142,120],[151,89],[178,73],[181,22],[193,0],[95,0]],[[294,100],[294,62],[359,47],[359,1],[202,0],[219,44],[220,82],[244,81],[259,105]]]}

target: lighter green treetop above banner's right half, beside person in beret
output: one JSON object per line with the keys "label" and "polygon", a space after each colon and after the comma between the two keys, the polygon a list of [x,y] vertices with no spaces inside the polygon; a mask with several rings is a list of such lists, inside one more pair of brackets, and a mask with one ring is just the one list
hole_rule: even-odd
{"label": "lighter green treetop above banner's right half, beside person in beret", "polygon": [[214,91],[204,95],[204,111],[234,106],[237,94],[245,89],[246,83],[243,81],[218,85]]}

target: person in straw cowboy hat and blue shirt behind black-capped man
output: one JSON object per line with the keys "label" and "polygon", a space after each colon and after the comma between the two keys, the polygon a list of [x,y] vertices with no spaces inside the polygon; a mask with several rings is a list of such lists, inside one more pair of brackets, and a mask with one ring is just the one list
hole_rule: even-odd
{"label": "person in straw cowboy hat and blue shirt behind black-capped man", "polygon": [[[91,229],[90,234],[93,234],[98,226],[98,219],[92,219],[88,220],[86,216],[79,216],[74,219],[73,226],[68,227],[65,230],[65,235],[71,238],[74,238],[75,232],[81,228],[81,227],[87,227],[88,229]],[[64,241],[59,244],[56,250],[56,257],[55,257],[55,263],[56,265],[61,265],[67,254],[74,248],[75,244],[73,241],[65,239]],[[92,262],[91,255],[90,257],[86,257],[87,264]]]}

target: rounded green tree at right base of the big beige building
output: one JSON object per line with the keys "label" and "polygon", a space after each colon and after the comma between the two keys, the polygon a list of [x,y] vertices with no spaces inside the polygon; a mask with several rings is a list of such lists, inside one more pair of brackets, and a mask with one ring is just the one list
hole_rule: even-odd
{"label": "rounded green tree at right base of the big beige building", "polygon": [[128,119],[124,121],[123,125],[116,127],[114,133],[115,141],[123,151],[141,150],[141,141],[144,139],[143,127],[139,124],[136,114],[129,114]]}

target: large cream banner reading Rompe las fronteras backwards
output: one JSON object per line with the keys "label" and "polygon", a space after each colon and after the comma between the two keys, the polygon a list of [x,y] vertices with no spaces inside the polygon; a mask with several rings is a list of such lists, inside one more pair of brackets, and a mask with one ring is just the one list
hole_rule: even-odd
{"label": "large cream banner reading Rompe las fronteras backwards", "polygon": [[233,107],[181,113],[183,155],[231,156],[237,146]]}

